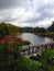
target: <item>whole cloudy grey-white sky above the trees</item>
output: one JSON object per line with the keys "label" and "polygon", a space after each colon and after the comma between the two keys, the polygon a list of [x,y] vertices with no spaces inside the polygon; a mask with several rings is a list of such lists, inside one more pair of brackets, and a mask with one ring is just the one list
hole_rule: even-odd
{"label": "whole cloudy grey-white sky above the trees", "polygon": [[21,27],[48,27],[52,21],[54,0],[0,0],[0,22]]}

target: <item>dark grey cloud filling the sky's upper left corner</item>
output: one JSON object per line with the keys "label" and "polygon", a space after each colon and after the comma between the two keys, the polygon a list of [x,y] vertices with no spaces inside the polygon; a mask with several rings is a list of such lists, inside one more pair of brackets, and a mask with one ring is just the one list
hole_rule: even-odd
{"label": "dark grey cloud filling the sky's upper left corner", "polygon": [[0,0],[0,10],[15,8],[19,3],[20,0]]}

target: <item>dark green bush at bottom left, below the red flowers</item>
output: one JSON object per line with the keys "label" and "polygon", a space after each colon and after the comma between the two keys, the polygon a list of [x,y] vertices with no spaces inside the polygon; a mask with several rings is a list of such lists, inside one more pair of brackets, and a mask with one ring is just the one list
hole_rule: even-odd
{"label": "dark green bush at bottom left, below the red flowers", "polygon": [[0,48],[1,71],[39,71],[42,63],[20,56],[19,50],[11,51],[8,48]]}

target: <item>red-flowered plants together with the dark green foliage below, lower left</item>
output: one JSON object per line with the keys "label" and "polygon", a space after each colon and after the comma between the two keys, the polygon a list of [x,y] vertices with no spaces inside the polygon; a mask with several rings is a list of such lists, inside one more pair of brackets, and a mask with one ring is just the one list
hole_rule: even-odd
{"label": "red-flowered plants together with the dark green foliage below, lower left", "polygon": [[21,43],[23,43],[21,38],[12,36],[2,37],[0,42],[1,71],[39,71],[42,66],[41,62],[21,56]]}

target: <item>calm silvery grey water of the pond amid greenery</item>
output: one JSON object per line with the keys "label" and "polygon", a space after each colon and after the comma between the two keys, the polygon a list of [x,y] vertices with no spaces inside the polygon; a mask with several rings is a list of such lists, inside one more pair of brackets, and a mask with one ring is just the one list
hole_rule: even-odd
{"label": "calm silvery grey water of the pond amid greenery", "polygon": [[23,34],[21,34],[21,37],[24,40],[29,40],[33,45],[52,42],[52,38],[41,37],[41,36],[34,35],[31,33],[23,33]]}

